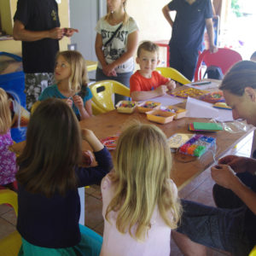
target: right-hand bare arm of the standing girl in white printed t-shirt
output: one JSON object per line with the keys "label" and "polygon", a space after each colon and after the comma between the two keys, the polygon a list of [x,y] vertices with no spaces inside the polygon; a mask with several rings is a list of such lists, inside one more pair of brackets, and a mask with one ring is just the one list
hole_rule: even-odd
{"label": "right-hand bare arm of the standing girl in white printed t-shirt", "polygon": [[105,67],[105,71],[107,73],[111,73],[115,67],[118,67],[125,61],[129,60],[135,53],[137,49],[137,41],[138,41],[138,31],[131,32],[131,34],[128,35],[127,38],[127,50],[123,55],[119,57],[116,61],[113,61],[111,64],[108,64],[107,67]]}

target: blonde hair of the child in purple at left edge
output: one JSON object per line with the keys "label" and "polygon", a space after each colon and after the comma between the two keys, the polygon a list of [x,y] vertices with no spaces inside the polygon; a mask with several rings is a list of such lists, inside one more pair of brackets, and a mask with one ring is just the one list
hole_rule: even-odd
{"label": "blonde hair of the child in purple at left edge", "polygon": [[11,124],[12,118],[9,109],[9,99],[5,90],[0,88],[0,134],[7,133]]}

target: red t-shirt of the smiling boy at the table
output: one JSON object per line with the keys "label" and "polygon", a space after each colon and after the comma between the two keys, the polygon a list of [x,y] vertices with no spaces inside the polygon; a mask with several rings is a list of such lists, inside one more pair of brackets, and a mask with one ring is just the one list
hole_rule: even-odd
{"label": "red t-shirt of the smiling boy at the table", "polygon": [[152,72],[152,76],[150,79],[144,78],[139,71],[137,70],[131,76],[130,79],[130,91],[148,91],[148,90],[155,90],[160,85],[166,84],[169,79],[164,78],[160,73],[157,71]]}

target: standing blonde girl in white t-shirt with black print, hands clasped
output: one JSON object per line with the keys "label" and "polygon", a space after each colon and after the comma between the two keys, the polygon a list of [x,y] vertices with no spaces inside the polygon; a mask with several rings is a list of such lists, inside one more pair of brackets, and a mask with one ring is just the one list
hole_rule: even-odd
{"label": "standing blonde girl in white t-shirt with black print, hands clasped", "polygon": [[[96,25],[96,81],[113,79],[130,88],[137,49],[138,27],[125,11],[126,0],[108,0],[108,15]],[[115,102],[124,100],[115,96]]]}

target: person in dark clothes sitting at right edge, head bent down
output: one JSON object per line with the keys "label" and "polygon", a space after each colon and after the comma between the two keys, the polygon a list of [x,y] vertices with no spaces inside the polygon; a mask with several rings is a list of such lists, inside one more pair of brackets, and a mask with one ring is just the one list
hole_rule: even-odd
{"label": "person in dark clothes sitting at right edge, head bent down", "polygon": [[[256,63],[240,61],[220,89],[234,119],[256,126]],[[206,255],[206,247],[248,255],[256,244],[256,160],[227,155],[211,168],[216,207],[183,201],[181,226],[172,237],[184,255]]]}

